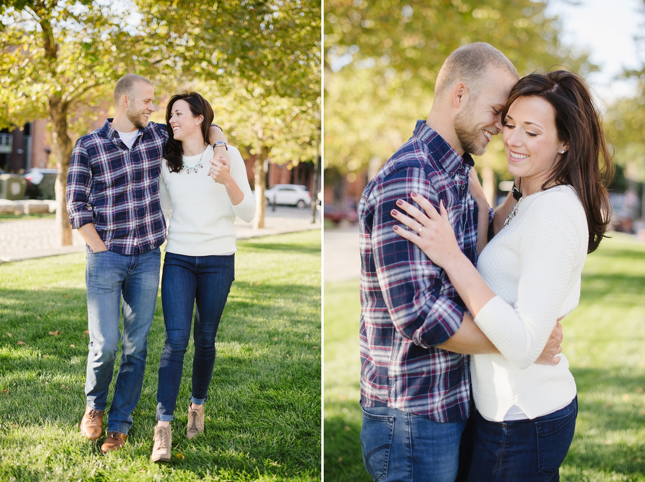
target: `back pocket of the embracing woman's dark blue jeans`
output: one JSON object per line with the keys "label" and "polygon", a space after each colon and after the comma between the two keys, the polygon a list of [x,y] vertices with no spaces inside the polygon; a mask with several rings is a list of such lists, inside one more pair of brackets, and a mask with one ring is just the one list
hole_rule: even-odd
{"label": "back pocket of the embracing woman's dark blue jeans", "polygon": [[551,476],[560,468],[573,440],[577,414],[578,401],[575,398],[570,405],[552,414],[557,418],[535,422],[537,462],[541,474]]}

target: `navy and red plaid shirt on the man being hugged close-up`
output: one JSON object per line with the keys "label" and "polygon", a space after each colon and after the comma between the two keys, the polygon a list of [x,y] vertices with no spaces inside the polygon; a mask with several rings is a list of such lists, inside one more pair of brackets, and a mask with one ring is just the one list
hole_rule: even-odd
{"label": "navy and red plaid shirt on the man being hugged close-up", "polygon": [[459,247],[476,264],[477,203],[468,190],[473,165],[468,153],[460,157],[425,121],[417,121],[410,140],[362,193],[364,407],[386,406],[439,422],[470,416],[470,357],[435,347],[459,329],[464,304],[445,271],[392,230],[398,222],[390,211],[397,199],[412,202],[412,191],[437,211],[443,200]]}

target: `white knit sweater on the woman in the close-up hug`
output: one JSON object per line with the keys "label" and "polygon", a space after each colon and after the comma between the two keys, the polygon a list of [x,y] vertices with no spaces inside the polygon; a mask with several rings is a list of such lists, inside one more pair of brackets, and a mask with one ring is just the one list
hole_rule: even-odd
{"label": "white knit sweater on the woman in the close-up hug", "polygon": [[475,406],[484,418],[503,421],[515,405],[533,419],[575,397],[564,354],[557,365],[533,362],[556,320],[578,305],[587,244],[579,198],[571,186],[556,186],[524,199],[482,251],[477,269],[497,296],[475,323],[501,352],[471,358]]}

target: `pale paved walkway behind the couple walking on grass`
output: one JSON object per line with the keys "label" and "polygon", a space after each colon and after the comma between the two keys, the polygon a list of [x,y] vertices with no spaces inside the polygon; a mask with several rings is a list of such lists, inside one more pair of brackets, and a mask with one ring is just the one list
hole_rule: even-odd
{"label": "pale paved walkway behind the couple walking on grass", "polygon": [[[252,223],[235,220],[237,239],[257,238],[321,229],[320,218],[311,224],[310,208],[278,206],[275,212],[267,206],[264,229],[253,229]],[[85,251],[85,242],[74,229],[72,246],[59,246],[55,219],[33,219],[0,222],[0,263],[67,255]]]}

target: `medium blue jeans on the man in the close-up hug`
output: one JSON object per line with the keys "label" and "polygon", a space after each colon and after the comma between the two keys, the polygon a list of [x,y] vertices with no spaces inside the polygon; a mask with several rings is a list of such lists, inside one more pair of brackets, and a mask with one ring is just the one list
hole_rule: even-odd
{"label": "medium blue jeans on the man in the close-up hug", "polygon": [[466,421],[439,423],[388,407],[363,407],[361,447],[375,482],[454,482]]}

